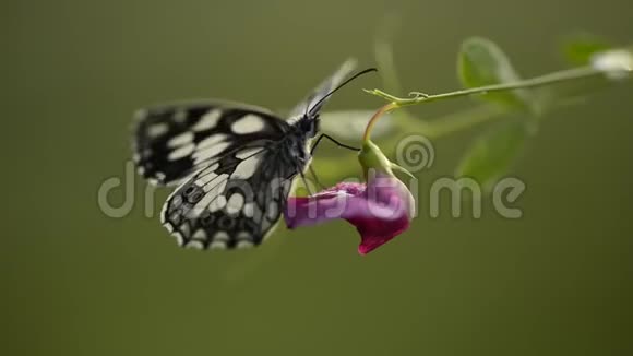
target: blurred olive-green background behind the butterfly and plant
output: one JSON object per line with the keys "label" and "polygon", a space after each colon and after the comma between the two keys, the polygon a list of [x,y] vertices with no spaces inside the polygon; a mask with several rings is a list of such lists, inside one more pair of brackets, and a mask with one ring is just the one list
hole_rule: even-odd
{"label": "blurred olive-green background behind the butterfly and plant", "polygon": [[[348,56],[372,66],[375,33],[391,13],[401,19],[393,46],[407,91],[457,88],[456,51],[471,35],[492,38],[524,75],[537,75],[563,68],[560,35],[586,29],[631,44],[631,1],[1,8],[11,203],[0,242],[0,354],[633,353],[630,86],[544,123],[513,171],[527,183],[523,218],[423,214],[366,257],[343,222],[282,228],[248,251],[180,249],[157,216],[144,217],[140,179],[127,216],[97,206],[104,180],[126,179],[139,107],[224,97],[288,108]],[[382,102],[360,92],[374,86],[377,76],[365,78],[327,108],[377,108]],[[414,112],[432,117],[466,104]],[[435,142],[435,165],[419,175],[422,191],[453,173],[476,132]],[[166,194],[157,194],[156,210]],[[117,190],[112,201],[122,195]],[[428,206],[423,195],[419,203]]]}

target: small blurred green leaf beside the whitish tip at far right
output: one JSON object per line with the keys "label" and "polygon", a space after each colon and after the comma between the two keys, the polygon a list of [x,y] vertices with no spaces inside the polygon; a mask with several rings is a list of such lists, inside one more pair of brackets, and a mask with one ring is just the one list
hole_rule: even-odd
{"label": "small blurred green leaf beside the whitish tip at far right", "polygon": [[561,51],[571,66],[585,66],[592,61],[592,56],[613,48],[609,40],[588,33],[576,33],[563,38]]}

